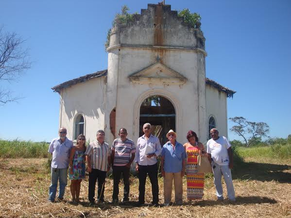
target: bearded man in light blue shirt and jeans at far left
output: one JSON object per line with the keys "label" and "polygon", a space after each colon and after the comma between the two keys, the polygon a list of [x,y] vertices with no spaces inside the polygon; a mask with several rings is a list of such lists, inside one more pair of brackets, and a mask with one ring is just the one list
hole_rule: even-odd
{"label": "bearded man in light blue shirt and jeans at far left", "polygon": [[59,137],[51,141],[49,151],[52,154],[51,160],[51,185],[49,190],[49,201],[54,202],[56,189],[59,185],[58,200],[64,199],[65,187],[67,185],[67,171],[69,154],[71,148],[74,146],[73,142],[67,137],[67,129],[62,127],[59,129]]}

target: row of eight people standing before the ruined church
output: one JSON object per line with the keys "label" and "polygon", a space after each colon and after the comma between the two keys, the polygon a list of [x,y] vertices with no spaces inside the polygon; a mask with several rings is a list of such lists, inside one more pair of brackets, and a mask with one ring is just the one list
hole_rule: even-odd
{"label": "row of eight people standing before the ruined church", "polygon": [[[152,134],[150,123],[143,125],[144,134],[137,139],[137,144],[127,138],[125,128],[119,130],[120,138],[113,141],[112,147],[104,142],[103,130],[97,132],[97,140],[86,147],[85,135],[77,137],[74,146],[69,140],[67,130],[60,128],[59,137],[51,141],[49,152],[51,161],[51,185],[49,188],[49,201],[54,202],[57,182],[59,181],[58,201],[62,201],[67,185],[67,170],[69,166],[70,191],[72,201],[79,202],[80,184],[85,178],[85,170],[89,173],[88,200],[95,201],[95,186],[98,183],[97,202],[104,201],[104,185],[107,172],[112,168],[113,193],[112,203],[119,202],[119,183],[123,177],[123,200],[128,202],[130,192],[130,167],[136,164],[139,180],[139,196],[137,205],[145,204],[145,184],[147,175],[152,185],[152,205],[159,203],[157,157],[161,156],[160,169],[164,178],[164,205],[171,203],[172,184],[174,183],[174,202],[181,205],[183,202],[183,177],[187,176],[187,199],[202,200],[205,173],[198,173],[199,156],[207,157],[214,173],[214,185],[218,200],[223,200],[222,175],[227,187],[230,201],[235,201],[235,192],[231,177],[233,167],[233,154],[231,145],[224,136],[219,136],[217,129],[210,131],[211,139],[207,142],[207,149],[199,142],[197,134],[188,131],[188,142],[184,145],[176,141],[177,134],[170,130],[167,133],[169,141],[161,147],[159,139]],[[85,165],[87,162],[87,168]],[[207,163],[206,163],[207,164]]]}

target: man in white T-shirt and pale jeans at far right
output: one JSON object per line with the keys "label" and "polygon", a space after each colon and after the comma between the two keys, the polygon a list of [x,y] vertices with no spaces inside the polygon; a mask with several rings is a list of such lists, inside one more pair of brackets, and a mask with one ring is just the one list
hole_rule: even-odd
{"label": "man in white T-shirt and pale jeans at far right", "polygon": [[208,159],[211,162],[214,186],[218,200],[223,200],[222,175],[226,184],[229,201],[236,201],[232,183],[231,168],[233,168],[233,152],[227,138],[218,136],[218,130],[210,130],[211,139],[207,142]]}

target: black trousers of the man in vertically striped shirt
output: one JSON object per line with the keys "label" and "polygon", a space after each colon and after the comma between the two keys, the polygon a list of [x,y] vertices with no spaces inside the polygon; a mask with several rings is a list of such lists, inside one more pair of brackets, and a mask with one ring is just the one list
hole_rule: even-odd
{"label": "black trousers of the man in vertically striped shirt", "polygon": [[89,201],[95,201],[95,185],[98,180],[97,199],[104,200],[104,185],[105,185],[106,171],[99,169],[93,169],[89,173],[89,187],[88,187],[88,199]]}

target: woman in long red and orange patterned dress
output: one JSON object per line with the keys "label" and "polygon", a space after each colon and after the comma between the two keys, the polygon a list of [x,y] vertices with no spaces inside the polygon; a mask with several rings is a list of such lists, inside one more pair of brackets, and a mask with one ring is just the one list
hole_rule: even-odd
{"label": "woman in long red and orange patterned dress", "polygon": [[204,146],[198,141],[197,134],[190,130],[187,134],[188,143],[184,144],[187,152],[187,199],[202,200],[204,189],[204,173],[197,173],[198,155],[207,155]]}

